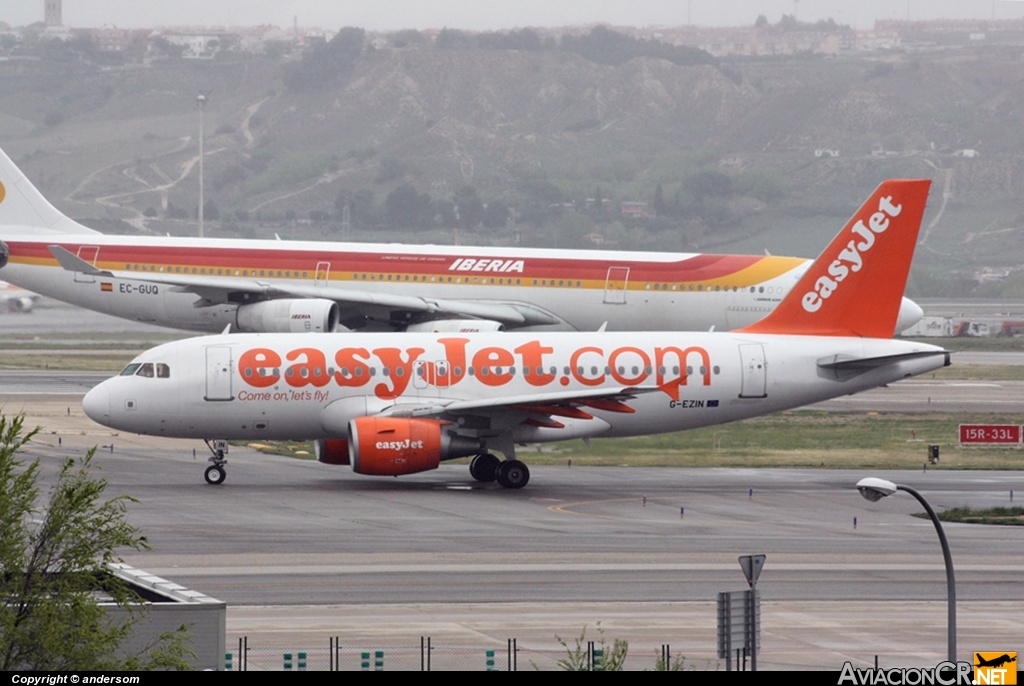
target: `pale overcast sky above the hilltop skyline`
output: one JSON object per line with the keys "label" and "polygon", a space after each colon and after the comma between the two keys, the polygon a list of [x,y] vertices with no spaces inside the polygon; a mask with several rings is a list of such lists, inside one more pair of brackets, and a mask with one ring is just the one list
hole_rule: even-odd
{"label": "pale overcast sky above the hilltop skyline", "polygon": [[[1020,0],[63,0],[72,28],[117,26],[292,25],[371,31],[489,30],[611,25],[748,26],[759,14],[802,22],[835,18],[857,29],[877,18],[1022,18]],[[0,22],[25,26],[43,18],[43,0],[0,0]]]}

